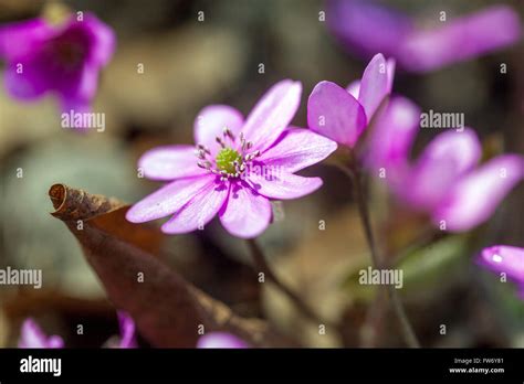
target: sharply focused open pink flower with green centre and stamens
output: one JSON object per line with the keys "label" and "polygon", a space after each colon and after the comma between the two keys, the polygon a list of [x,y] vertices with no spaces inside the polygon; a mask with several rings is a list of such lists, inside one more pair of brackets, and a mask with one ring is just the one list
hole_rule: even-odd
{"label": "sharply focused open pink flower with green centre and stamens", "polygon": [[171,181],[127,212],[134,223],[168,215],[168,234],[202,228],[214,215],[231,234],[260,235],[271,220],[270,199],[296,199],[317,190],[319,178],[295,172],[325,159],[336,143],[307,129],[289,127],[302,86],[272,86],[244,120],[223,105],[203,108],[192,146],[166,146],[146,152],[139,169],[154,180]]}

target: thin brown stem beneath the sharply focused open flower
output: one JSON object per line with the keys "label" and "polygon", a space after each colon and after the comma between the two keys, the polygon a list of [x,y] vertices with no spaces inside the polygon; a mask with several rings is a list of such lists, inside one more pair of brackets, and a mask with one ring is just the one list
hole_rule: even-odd
{"label": "thin brown stem beneath the sharply focused open flower", "polygon": [[[317,313],[315,313],[315,311],[298,295],[295,294],[295,291],[293,291],[290,287],[282,282],[279,277],[276,277],[276,275],[273,273],[270,265],[268,264],[264,253],[262,252],[259,244],[252,238],[249,238],[247,242],[251,250],[255,268],[262,271],[271,282],[273,282],[282,292],[284,292],[293,301],[296,308],[298,308],[302,313],[307,317],[307,319],[317,324],[322,323],[327,327],[329,322],[322,320],[321,317],[317,316]],[[338,329],[338,327],[335,328]]]}

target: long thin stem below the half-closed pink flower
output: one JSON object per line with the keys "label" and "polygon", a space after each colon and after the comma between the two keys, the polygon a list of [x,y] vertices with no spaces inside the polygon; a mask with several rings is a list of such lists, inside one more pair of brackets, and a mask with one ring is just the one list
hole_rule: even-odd
{"label": "long thin stem below the half-closed pink flower", "polygon": [[[360,214],[360,221],[364,226],[364,233],[366,235],[366,241],[369,246],[369,250],[371,252],[371,264],[375,269],[382,269],[382,260],[380,259],[375,237],[373,235],[371,223],[369,218],[369,210],[367,205],[366,196],[364,195],[363,184],[360,172],[358,171],[358,167],[345,168],[345,173],[348,174],[352,179],[354,191],[355,191],[355,200],[358,205],[358,212]],[[413,328],[409,322],[408,316],[406,314],[406,310],[402,306],[402,301],[398,296],[396,288],[392,285],[387,285],[388,296],[391,302],[391,307],[394,308],[395,314],[397,316],[398,321],[400,322],[400,327],[402,329],[402,335],[405,338],[406,343],[410,348],[420,348],[420,342],[415,334]]]}

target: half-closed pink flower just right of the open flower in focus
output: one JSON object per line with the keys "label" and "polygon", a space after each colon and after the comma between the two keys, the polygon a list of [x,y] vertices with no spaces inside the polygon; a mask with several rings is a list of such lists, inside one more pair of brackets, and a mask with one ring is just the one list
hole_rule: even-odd
{"label": "half-closed pink flower just right of the open flower in focus", "polygon": [[353,148],[384,98],[390,94],[395,61],[375,55],[360,81],[346,89],[332,82],[318,83],[307,100],[310,128]]}

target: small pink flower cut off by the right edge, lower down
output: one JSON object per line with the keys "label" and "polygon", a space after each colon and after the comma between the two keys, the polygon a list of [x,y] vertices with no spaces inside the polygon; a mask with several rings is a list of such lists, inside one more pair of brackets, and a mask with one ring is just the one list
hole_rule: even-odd
{"label": "small pink flower cut off by the right edge, lower down", "polygon": [[497,274],[506,274],[518,287],[520,297],[524,300],[524,248],[509,245],[495,245],[484,248],[479,263]]}

